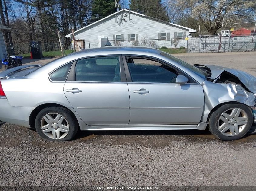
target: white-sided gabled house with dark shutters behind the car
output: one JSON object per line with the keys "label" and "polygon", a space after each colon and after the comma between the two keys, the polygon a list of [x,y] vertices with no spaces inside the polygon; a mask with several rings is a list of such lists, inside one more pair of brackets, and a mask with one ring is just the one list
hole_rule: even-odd
{"label": "white-sided gabled house with dark shutters behind the car", "polygon": [[[122,9],[99,21],[74,32],[80,48],[85,41],[85,48],[101,46],[152,46],[173,47],[172,39],[180,39],[179,46],[186,46],[190,33],[194,29],[162,21],[131,10]],[[73,40],[72,33],[66,37]],[[77,43],[76,43],[77,44]],[[77,47],[76,47],[77,48]]]}

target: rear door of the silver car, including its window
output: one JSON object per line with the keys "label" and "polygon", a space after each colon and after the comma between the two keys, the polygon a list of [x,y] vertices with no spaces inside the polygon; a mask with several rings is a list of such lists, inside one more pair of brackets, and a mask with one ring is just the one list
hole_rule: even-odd
{"label": "rear door of the silver car, including its window", "polygon": [[129,91],[120,58],[85,58],[72,65],[64,93],[89,126],[129,123]]}

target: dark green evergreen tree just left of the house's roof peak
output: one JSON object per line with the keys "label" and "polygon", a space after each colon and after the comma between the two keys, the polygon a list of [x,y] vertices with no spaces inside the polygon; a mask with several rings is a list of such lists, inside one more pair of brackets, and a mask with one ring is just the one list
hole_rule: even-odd
{"label": "dark green evergreen tree just left of the house's roof peak", "polygon": [[114,0],[93,0],[91,7],[93,19],[95,21],[107,17],[108,15],[115,13],[115,1]]}

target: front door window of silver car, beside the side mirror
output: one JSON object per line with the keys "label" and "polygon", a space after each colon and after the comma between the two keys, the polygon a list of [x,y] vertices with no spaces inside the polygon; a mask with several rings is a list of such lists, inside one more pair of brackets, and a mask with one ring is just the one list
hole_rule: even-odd
{"label": "front door window of silver car, beside the side mirror", "polygon": [[178,72],[160,62],[145,58],[128,58],[128,68],[133,82],[175,83]]}

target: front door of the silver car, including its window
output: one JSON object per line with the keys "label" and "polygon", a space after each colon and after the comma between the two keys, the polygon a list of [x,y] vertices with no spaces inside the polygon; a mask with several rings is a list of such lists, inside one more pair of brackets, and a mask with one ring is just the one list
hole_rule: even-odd
{"label": "front door of the silver car, including its window", "polygon": [[127,65],[132,79],[129,125],[200,122],[204,105],[200,84],[175,84],[180,71],[156,60],[129,57]]}

